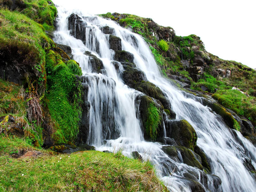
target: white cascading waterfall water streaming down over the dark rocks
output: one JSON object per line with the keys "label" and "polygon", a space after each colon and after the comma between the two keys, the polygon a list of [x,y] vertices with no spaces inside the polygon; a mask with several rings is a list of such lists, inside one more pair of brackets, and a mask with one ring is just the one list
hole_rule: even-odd
{"label": "white cascading waterfall water streaming down over the dark rocks", "polygon": [[[54,3],[60,5],[62,1],[55,0]],[[201,104],[200,98],[178,90],[162,77],[141,36],[111,20],[90,16],[83,10],[69,10],[63,6],[57,8],[58,28],[54,40],[71,47],[73,59],[80,64],[83,81],[88,85],[88,144],[98,150],[116,151],[121,148],[126,156],[131,156],[132,151],[138,151],[143,159],[155,164],[159,177],[170,191],[191,191],[191,181],[185,178],[190,173],[193,173],[191,177],[200,182],[205,191],[256,190],[256,182],[243,164],[244,159],[249,157],[252,164],[256,165],[256,148],[240,132],[230,131],[219,116]],[[85,36],[80,38],[84,42],[73,37],[76,36],[76,28],[73,30],[75,34],[70,35],[68,17],[72,13],[83,20],[84,25],[77,23],[77,26],[84,30]],[[116,62],[119,65],[119,70],[116,70],[113,64],[115,52],[109,49],[109,35],[102,32],[103,26],[109,26],[113,35],[120,37],[122,49],[134,55],[136,67],[144,71],[148,81],[163,91],[177,114],[176,118],[186,119],[194,127],[198,136],[197,145],[210,159],[211,172],[220,177],[221,187],[214,183],[213,175],[182,163],[181,156],[179,159],[171,159],[161,149],[163,145],[143,139],[136,102],[143,93],[129,88],[122,81],[122,65]],[[104,70],[101,73],[93,73],[91,57],[85,55],[85,51],[102,60]]]}

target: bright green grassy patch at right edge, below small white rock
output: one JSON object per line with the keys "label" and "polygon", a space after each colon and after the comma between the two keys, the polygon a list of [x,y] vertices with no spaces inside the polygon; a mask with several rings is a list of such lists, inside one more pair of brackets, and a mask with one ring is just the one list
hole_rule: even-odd
{"label": "bright green grassy patch at right edge, below small white rock", "polygon": [[236,114],[250,118],[256,123],[256,105],[254,97],[247,97],[238,90],[226,89],[218,90],[212,97],[226,108],[236,112]]}

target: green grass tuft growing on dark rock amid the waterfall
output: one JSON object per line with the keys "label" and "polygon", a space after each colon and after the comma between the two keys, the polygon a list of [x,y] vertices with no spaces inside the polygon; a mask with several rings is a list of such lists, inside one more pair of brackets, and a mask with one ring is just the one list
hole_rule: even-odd
{"label": "green grass tuft growing on dark rock amid the waterfall", "polygon": [[152,140],[156,140],[158,124],[161,123],[160,111],[153,102],[148,105],[148,119],[145,123],[146,133]]}

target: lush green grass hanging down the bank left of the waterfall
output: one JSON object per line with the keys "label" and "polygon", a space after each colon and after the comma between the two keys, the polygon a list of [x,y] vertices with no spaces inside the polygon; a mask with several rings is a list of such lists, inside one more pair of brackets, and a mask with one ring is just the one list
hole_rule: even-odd
{"label": "lush green grass hanging down the bank left of the waterfall", "polygon": [[[77,67],[74,67],[74,66]],[[60,130],[54,137],[59,142],[65,139],[73,141],[79,129],[81,115],[82,88],[76,86],[74,73],[81,74],[79,66],[72,60],[65,64],[60,55],[49,51],[46,56],[47,94],[44,99],[51,117],[59,124]]]}

